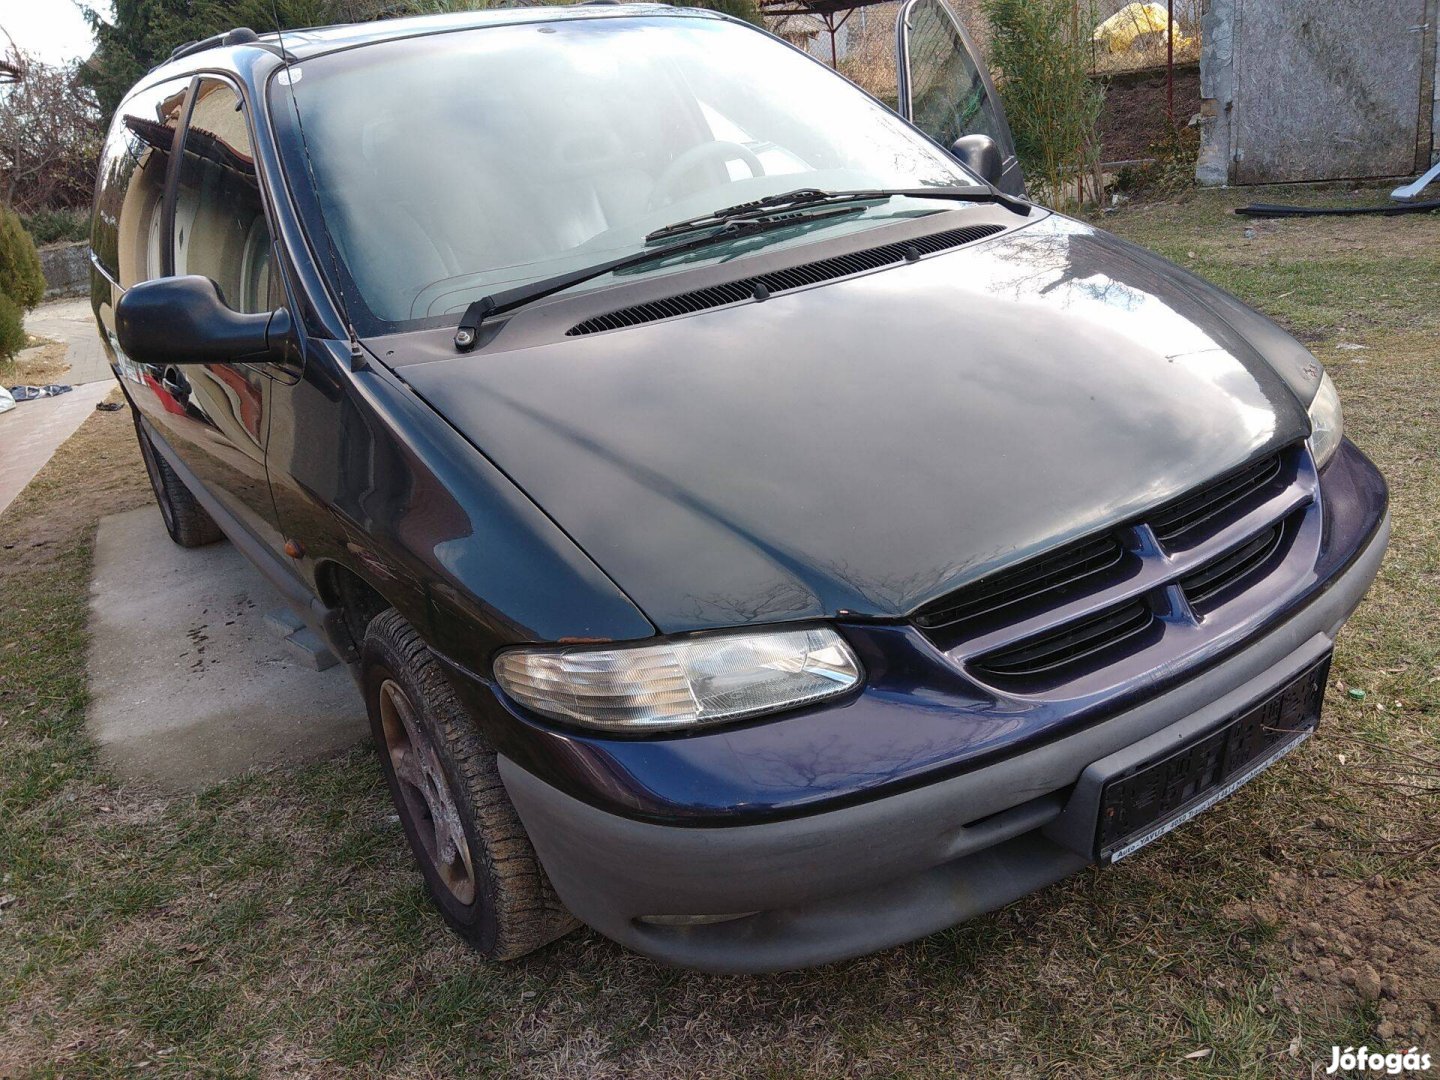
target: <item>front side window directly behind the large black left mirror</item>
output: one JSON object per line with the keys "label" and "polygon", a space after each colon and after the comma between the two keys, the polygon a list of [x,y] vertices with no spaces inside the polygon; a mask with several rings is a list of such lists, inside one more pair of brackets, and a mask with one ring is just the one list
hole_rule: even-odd
{"label": "front side window directly behind the large black left mirror", "polygon": [[173,236],[176,274],[210,278],[236,311],[279,305],[245,109],[235,88],[217,79],[200,81],[190,108]]}

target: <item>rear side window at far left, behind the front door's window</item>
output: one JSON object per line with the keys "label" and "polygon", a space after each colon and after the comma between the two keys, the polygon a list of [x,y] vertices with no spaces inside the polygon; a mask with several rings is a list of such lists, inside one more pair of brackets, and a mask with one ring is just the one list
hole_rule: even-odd
{"label": "rear side window at far left, behind the front door's window", "polygon": [[131,95],[115,112],[99,158],[91,246],[105,272],[130,288],[161,266],[163,196],[190,79]]}

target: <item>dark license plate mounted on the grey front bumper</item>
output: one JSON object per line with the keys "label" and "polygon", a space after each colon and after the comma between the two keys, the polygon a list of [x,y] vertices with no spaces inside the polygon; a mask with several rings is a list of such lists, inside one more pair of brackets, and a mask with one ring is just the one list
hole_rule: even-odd
{"label": "dark license plate mounted on the grey front bumper", "polygon": [[1096,858],[1117,863],[1243,788],[1310,737],[1331,670],[1326,657],[1293,683],[1194,742],[1106,782]]}

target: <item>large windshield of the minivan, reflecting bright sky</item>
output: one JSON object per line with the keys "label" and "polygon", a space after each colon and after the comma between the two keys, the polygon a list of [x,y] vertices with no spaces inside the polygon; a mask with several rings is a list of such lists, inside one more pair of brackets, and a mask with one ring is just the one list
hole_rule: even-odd
{"label": "large windshield of the minivan, reflecting bright sky", "polygon": [[[975,183],[822,65],[708,17],[379,42],[279,72],[271,114],[291,183],[312,187],[334,242],[323,262],[338,265],[323,269],[369,333],[454,323],[495,289],[644,251],[654,229],[766,194]],[[742,249],[937,209],[897,197]],[[719,243],[626,276],[734,256]]]}

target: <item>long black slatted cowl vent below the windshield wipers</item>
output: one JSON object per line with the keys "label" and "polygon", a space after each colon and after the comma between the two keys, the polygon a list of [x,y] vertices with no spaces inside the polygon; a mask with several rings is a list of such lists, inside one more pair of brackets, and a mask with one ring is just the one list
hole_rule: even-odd
{"label": "long black slatted cowl vent below the windshield wipers", "polygon": [[645,304],[608,311],[603,315],[595,315],[583,323],[576,323],[564,333],[566,337],[600,334],[606,330],[622,330],[625,327],[636,327],[642,323],[655,323],[662,318],[724,307],[726,304],[739,304],[742,300],[762,300],[773,297],[776,292],[789,292],[805,285],[816,285],[822,281],[834,281],[835,278],[848,278],[852,274],[864,274],[881,266],[914,261],[922,255],[935,255],[950,248],[960,248],[966,243],[984,240],[986,236],[994,236],[998,232],[1005,232],[1005,226],[971,225],[963,229],[948,229],[946,232],[930,233],[929,236],[917,236],[913,240],[867,248],[850,255],[838,255],[834,259],[806,262],[801,266],[775,271],[773,274],[757,274],[753,278],[727,281],[723,285],[711,285],[710,288],[680,292],[664,300],[652,300]]}

